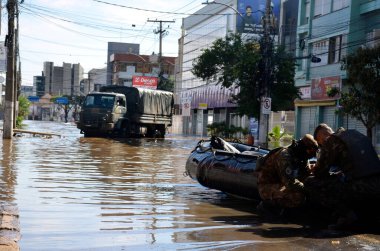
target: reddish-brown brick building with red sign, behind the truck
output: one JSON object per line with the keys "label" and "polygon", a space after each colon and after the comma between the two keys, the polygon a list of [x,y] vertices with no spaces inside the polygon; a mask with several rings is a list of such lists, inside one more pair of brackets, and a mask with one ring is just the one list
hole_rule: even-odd
{"label": "reddish-brown brick building with red sign, behind the truck", "polygon": [[[158,77],[174,80],[175,57],[161,57],[158,55],[138,55],[132,53],[115,53],[110,57],[112,66],[112,84],[124,86],[138,86],[138,79],[144,77],[157,87]],[[137,78],[140,77],[140,78]]]}

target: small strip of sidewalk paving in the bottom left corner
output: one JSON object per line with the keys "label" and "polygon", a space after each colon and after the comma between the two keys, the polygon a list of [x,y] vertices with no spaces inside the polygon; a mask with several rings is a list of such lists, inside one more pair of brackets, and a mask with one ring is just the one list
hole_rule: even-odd
{"label": "small strip of sidewalk paving in the bottom left corner", "polygon": [[18,251],[20,240],[18,209],[15,205],[0,202],[0,251]]}

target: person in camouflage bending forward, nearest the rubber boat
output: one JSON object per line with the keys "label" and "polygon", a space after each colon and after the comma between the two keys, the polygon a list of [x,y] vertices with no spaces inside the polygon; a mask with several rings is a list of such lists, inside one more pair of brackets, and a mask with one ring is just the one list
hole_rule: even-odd
{"label": "person in camouflage bending forward, nearest the rubber boat", "polygon": [[[318,144],[306,134],[288,147],[277,148],[258,161],[258,190],[263,203],[277,208],[295,208],[303,204],[303,179],[309,175],[309,159]],[[261,203],[261,206],[263,205]]]}

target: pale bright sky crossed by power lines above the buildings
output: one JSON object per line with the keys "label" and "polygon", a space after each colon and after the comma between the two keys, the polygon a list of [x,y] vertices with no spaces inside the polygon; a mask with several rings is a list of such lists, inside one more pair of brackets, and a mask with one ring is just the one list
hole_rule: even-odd
{"label": "pale bright sky crossed by power lines above the buildings", "polygon": [[[3,3],[6,0],[2,1]],[[202,8],[205,0],[24,0],[20,4],[19,44],[22,85],[33,85],[43,62],[56,66],[80,63],[84,72],[103,68],[107,43],[140,44],[140,54],[159,52],[158,23],[168,31],[163,56],[178,56],[182,18]],[[8,14],[2,9],[0,39],[7,34]],[[87,77],[85,74],[84,77]]]}

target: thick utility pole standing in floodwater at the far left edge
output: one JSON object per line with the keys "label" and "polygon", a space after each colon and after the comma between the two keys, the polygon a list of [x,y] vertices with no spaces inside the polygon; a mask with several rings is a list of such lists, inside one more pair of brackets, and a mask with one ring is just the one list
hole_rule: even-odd
{"label": "thick utility pole standing in floodwater at the far left edge", "polygon": [[7,75],[5,87],[5,110],[3,124],[3,138],[11,139],[13,136],[14,108],[15,108],[15,16],[17,0],[8,0],[8,35],[7,47]]}

